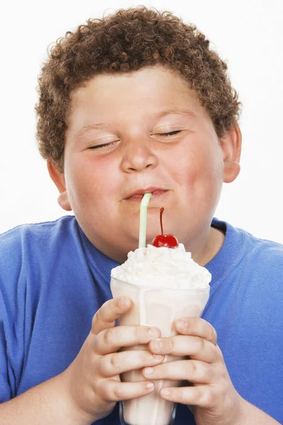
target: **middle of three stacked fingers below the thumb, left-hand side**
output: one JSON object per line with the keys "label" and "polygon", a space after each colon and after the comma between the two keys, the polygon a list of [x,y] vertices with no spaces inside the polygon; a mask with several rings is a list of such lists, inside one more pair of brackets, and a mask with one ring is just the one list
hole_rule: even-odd
{"label": "middle of three stacked fingers below the thumb, left-hand side", "polygon": [[121,351],[101,357],[100,375],[105,378],[120,375],[128,370],[141,369],[146,366],[157,365],[164,360],[164,356],[150,353],[148,350]]}

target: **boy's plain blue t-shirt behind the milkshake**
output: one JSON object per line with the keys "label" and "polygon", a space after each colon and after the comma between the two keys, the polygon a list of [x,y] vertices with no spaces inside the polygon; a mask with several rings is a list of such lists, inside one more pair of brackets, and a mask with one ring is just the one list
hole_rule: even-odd
{"label": "boy's plain blue t-shirt behind the milkshake", "polygon": [[[283,422],[283,246],[213,220],[226,232],[202,317],[212,323],[239,394]],[[111,297],[117,266],[75,217],[23,225],[0,237],[0,402],[66,369]],[[120,424],[117,405],[96,425]],[[175,425],[195,424],[178,404]]]}

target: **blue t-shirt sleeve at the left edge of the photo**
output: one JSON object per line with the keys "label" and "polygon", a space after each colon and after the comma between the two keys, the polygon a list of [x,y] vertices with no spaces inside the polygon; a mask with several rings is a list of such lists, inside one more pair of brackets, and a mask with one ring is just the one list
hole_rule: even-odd
{"label": "blue t-shirt sleeve at the left edge of the photo", "polygon": [[[16,397],[23,370],[25,289],[21,237],[0,236],[0,402]],[[22,286],[22,288],[21,288]]]}

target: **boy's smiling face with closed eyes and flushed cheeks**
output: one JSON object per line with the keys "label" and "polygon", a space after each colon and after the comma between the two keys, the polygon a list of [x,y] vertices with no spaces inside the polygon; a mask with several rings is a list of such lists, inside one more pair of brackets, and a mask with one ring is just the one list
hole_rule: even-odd
{"label": "boy's smiling face with closed eyes and flushed cheeks", "polygon": [[88,239],[122,262],[138,246],[141,198],[151,192],[147,243],[161,233],[163,207],[164,233],[200,254],[224,181],[225,149],[175,72],[99,75],[72,96],[63,208],[68,203]]}

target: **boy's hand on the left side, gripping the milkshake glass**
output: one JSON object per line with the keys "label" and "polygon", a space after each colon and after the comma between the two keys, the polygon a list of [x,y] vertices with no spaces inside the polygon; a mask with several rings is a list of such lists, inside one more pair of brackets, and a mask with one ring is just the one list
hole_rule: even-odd
{"label": "boy's hand on the left side, gripping the milkshake glass", "polygon": [[129,310],[131,303],[129,298],[117,297],[100,307],[81,351],[62,374],[71,403],[81,412],[82,421],[85,419],[83,424],[107,416],[119,400],[154,390],[149,380],[120,381],[120,373],[163,361],[163,356],[154,357],[148,350],[134,351],[134,355],[132,351],[117,353],[121,347],[148,344],[161,336],[159,329],[152,327],[115,327],[115,320]]}

